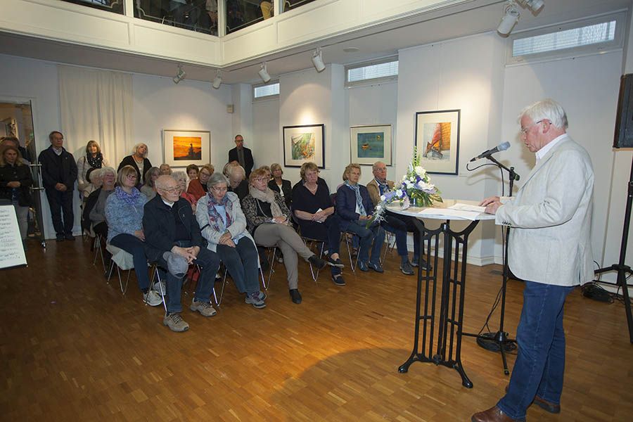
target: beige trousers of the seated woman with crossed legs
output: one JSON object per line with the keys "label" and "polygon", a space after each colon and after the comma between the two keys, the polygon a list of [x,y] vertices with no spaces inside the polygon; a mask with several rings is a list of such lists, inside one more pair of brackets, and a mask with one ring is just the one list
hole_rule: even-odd
{"label": "beige trousers of the seated woman with crossed legs", "polygon": [[288,275],[288,288],[297,288],[299,286],[297,254],[305,260],[314,255],[314,252],[307,248],[297,232],[292,227],[283,224],[264,223],[257,226],[257,230],[255,230],[255,243],[267,248],[276,246],[281,249],[283,265],[286,266],[286,274]]}

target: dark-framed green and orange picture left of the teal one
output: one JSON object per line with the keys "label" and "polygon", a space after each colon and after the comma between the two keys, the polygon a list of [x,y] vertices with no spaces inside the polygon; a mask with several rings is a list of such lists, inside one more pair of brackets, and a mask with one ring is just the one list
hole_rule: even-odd
{"label": "dark-framed green and orange picture left of the teal one", "polygon": [[325,124],[283,127],[283,165],[301,167],[312,161],[325,168]]}

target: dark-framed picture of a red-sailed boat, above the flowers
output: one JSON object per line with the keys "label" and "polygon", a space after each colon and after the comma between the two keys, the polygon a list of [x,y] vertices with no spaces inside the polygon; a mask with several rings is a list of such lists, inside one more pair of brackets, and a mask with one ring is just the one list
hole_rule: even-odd
{"label": "dark-framed picture of a red-sailed boat, above the flowers", "polygon": [[432,174],[457,174],[460,110],[418,111],[416,148],[420,165]]}

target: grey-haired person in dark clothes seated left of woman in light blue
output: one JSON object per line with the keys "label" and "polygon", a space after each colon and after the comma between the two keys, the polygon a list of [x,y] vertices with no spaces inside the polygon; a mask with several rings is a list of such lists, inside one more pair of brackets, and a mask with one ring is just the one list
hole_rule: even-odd
{"label": "grey-haired person in dark clothes seated left of woman in light blue", "polygon": [[101,187],[90,194],[82,212],[82,229],[90,230],[106,240],[108,238],[108,223],[106,223],[106,200],[110,193],[114,192],[117,174],[112,167],[103,167],[95,170],[91,176],[98,174],[101,177]]}

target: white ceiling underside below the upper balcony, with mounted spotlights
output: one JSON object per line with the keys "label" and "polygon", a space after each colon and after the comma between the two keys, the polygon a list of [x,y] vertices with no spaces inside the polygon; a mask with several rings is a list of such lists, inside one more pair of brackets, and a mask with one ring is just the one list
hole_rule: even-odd
{"label": "white ceiling underside below the upper balcony, with mounted spotlights", "polygon": [[[629,8],[631,4],[631,0],[546,0],[538,15],[532,15],[523,9],[513,32],[618,11]],[[375,25],[369,29],[321,39],[318,43],[231,65],[222,69],[222,77],[224,83],[229,84],[258,82],[260,79],[257,77],[257,70],[262,60],[266,60],[268,72],[273,77],[306,69],[312,66],[310,57],[316,46],[321,46],[326,64],[347,65],[395,55],[399,49],[409,46],[493,31],[499,24],[503,8],[502,0],[473,0],[441,11],[423,13],[386,25]],[[350,46],[357,47],[359,51],[343,51]],[[176,71],[176,63],[172,60],[135,56],[5,32],[0,32],[0,53],[165,77],[174,76]],[[215,68],[185,64],[184,70],[187,79],[211,81],[215,77]]]}

